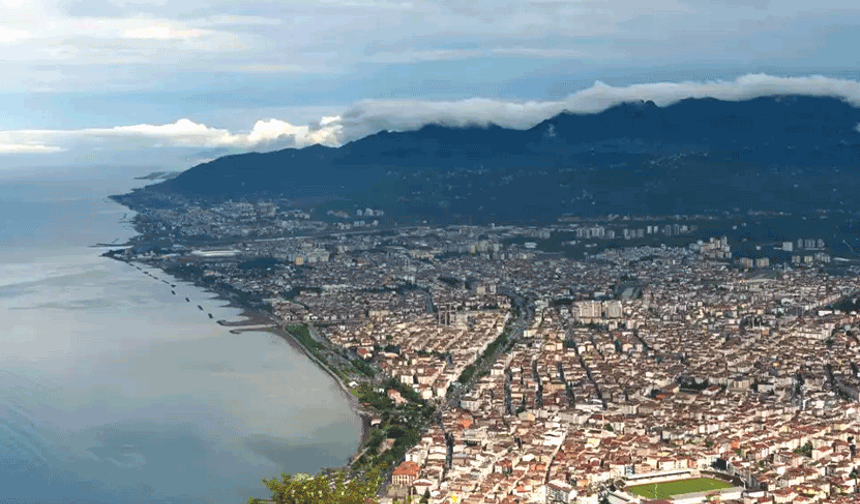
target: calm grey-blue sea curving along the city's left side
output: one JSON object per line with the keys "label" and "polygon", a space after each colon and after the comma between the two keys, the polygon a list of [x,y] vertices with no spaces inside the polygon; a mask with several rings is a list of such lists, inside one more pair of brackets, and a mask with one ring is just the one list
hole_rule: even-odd
{"label": "calm grey-blue sea curving along the city's left side", "polygon": [[283,339],[100,256],[134,235],[107,196],[145,173],[0,172],[0,502],[235,504],[358,446],[347,397]]}

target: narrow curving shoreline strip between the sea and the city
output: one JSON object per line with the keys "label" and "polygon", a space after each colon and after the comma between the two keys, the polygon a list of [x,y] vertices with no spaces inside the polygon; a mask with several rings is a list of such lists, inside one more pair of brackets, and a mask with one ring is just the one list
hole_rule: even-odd
{"label": "narrow curving shoreline strip between the sea and the city", "polygon": [[[174,279],[174,281],[182,281],[188,282],[192,284],[194,287],[201,289],[204,292],[208,292],[210,294],[214,294],[216,300],[220,300],[226,302],[226,305],[222,305],[221,308],[235,308],[237,310],[241,310],[237,318],[244,320],[223,320],[219,319],[217,321],[212,321],[218,324],[221,327],[229,328],[229,332],[231,334],[242,334],[245,332],[265,332],[272,334],[274,336],[278,336],[283,339],[290,347],[294,350],[298,351],[300,354],[304,355],[311,362],[313,362],[319,369],[321,369],[324,373],[326,373],[329,377],[334,380],[335,385],[340,390],[341,394],[343,394],[347,401],[349,402],[350,409],[352,412],[359,418],[361,421],[361,430],[358,447],[356,447],[355,453],[350,455],[350,457],[346,460],[346,462],[340,466],[340,468],[348,468],[352,461],[355,459],[355,456],[361,453],[361,447],[367,441],[370,435],[370,421],[373,415],[364,411],[361,407],[361,403],[358,398],[353,395],[350,391],[349,387],[340,379],[337,374],[326,366],[324,363],[320,362],[311,352],[308,351],[307,348],[304,347],[289,331],[283,328],[282,325],[278,324],[276,321],[272,320],[272,315],[266,310],[260,308],[254,308],[247,306],[241,302],[241,300],[237,299],[238,296],[235,293],[232,293],[228,290],[213,288],[212,286],[203,285],[197,279],[194,278],[183,278],[180,276],[175,276],[164,269],[161,269],[157,266],[153,266],[151,264],[140,262],[140,261],[132,261],[128,259],[121,259],[118,257],[112,257],[106,254],[102,254],[102,257],[106,257],[108,259],[113,259],[116,261],[120,261],[128,264],[129,266],[134,267],[135,269],[140,270],[140,266],[146,266],[148,268],[153,268],[160,271],[162,274],[169,276]],[[145,273],[146,276],[150,277],[151,280],[161,281],[164,280],[156,279],[150,274]],[[168,283],[168,282],[165,282]],[[325,468],[323,468],[325,469]]]}

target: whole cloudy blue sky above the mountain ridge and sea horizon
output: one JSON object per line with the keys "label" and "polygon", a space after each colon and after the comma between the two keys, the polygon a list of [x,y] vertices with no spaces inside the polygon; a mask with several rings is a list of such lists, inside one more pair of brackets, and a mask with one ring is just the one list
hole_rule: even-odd
{"label": "whole cloudy blue sky above the mountain ridge and sea horizon", "polygon": [[632,99],[860,104],[856,0],[0,0],[0,169],[186,169]]}

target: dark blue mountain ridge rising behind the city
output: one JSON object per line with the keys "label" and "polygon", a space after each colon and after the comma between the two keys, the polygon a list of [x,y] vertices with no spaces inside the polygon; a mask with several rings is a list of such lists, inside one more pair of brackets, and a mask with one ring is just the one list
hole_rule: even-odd
{"label": "dark blue mountain ridge rising behind the city", "polygon": [[339,148],[225,156],[116,199],[284,197],[406,216],[860,209],[860,109],[835,98],[685,99],[564,112],[527,130],[427,125]]}

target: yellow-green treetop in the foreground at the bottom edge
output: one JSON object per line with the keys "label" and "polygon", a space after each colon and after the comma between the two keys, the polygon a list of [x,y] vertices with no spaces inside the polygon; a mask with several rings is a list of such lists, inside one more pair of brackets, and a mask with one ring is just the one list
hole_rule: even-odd
{"label": "yellow-green treetop in the foreground at the bottom edge", "polygon": [[[370,471],[364,477],[349,480],[343,471],[338,471],[333,474],[321,472],[316,476],[283,473],[280,478],[264,479],[263,484],[272,493],[271,500],[276,504],[365,504],[368,499],[373,499],[381,481],[379,471]],[[248,499],[248,504],[263,502]]]}

